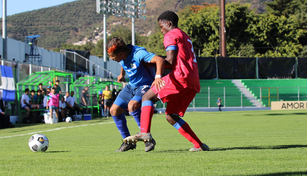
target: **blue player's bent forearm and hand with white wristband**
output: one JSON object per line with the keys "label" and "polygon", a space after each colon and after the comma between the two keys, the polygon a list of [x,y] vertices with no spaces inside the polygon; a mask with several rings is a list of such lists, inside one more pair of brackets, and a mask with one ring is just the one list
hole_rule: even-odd
{"label": "blue player's bent forearm and hand with white wristband", "polygon": [[161,91],[161,88],[164,88],[164,82],[162,81],[161,79],[161,75],[163,73],[163,70],[164,70],[164,63],[165,63],[165,60],[159,56],[154,56],[150,63],[156,63],[157,65],[157,72],[156,72],[156,77],[155,77],[155,80],[153,81],[153,83],[151,84],[151,88],[152,87],[155,87],[156,88],[156,91]]}

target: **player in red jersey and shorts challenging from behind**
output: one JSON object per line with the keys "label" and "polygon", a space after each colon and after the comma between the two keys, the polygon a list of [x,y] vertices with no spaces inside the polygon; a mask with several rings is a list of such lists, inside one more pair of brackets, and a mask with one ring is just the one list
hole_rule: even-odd
{"label": "player in red jersey and shorts challenging from behind", "polygon": [[[156,75],[151,89],[142,98],[141,132],[124,139],[127,143],[146,141],[145,151],[146,147],[149,147],[147,145],[155,145],[154,142],[150,143],[152,140],[150,125],[154,111],[153,103],[159,100],[162,103],[168,102],[165,110],[166,120],[193,143],[194,147],[190,151],[209,150],[209,147],[198,139],[188,123],[181,118],[196,93],[199,93],[200,83],[192,41],[178,28],[178,20],[177,14],[172,11],[165,11],[158,17],[164,35],[165,60],[172,66],[173,71],[162,78],[161,75]],[[161,79],[164,83],[159,84]]]}

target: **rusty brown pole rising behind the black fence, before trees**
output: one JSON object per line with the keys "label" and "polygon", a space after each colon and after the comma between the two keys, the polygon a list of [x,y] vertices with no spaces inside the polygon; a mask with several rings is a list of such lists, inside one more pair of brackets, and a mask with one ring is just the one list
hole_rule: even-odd
{"label": "rusty brown pole rising behind the black fence, before trees", "polygon": [[220,36],[221,36],[221,57],[227,57],[226,51],[226,17],[225,17],[225,0],[221,0],[220,3],[221,8],[221,28],[220,28]]}

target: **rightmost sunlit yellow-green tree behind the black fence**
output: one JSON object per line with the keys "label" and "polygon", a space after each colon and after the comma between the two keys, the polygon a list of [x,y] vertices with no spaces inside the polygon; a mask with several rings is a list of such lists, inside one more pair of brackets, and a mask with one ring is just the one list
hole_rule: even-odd
{"label": "rightmost sunlit yellow-green tree behind the black fence", "polygon": [[254,17],[247,28],[252,36],[251,41],[259,46],[266,46],[257,56],[262,57],[295,57],[302,45],[299,38],[305,36],[306,31],[299,28],[295,16],[275,16],[259,14]]}

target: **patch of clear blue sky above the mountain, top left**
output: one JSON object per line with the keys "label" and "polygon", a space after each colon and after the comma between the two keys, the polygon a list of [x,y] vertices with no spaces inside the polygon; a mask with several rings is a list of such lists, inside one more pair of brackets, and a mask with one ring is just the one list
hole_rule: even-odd
{"label": "patch of clear blue sky above the mountain, top left", "polygon": [[[72,1],[76,0],[6,0],[6,15],[57,6]],[[2,0],[0,0],[0,4],[0,18],[2,18]]]}

